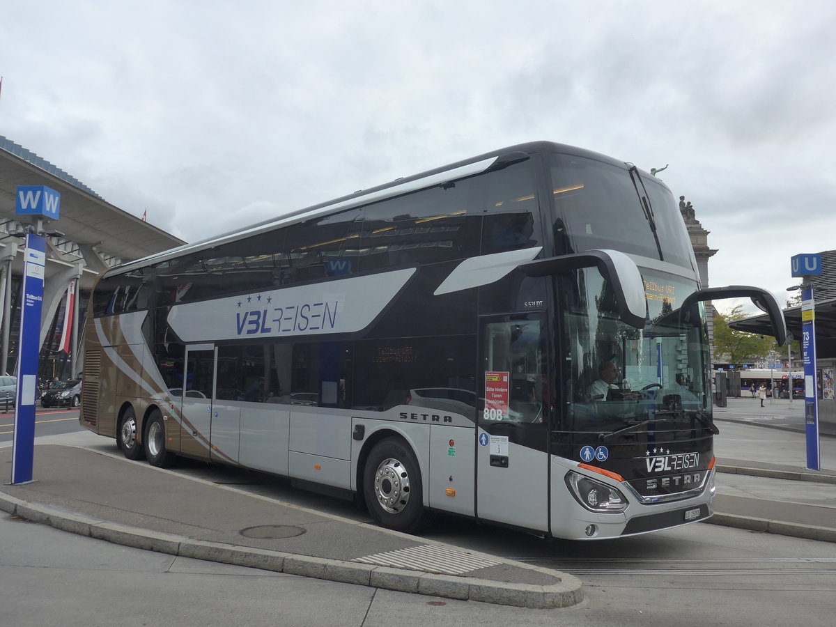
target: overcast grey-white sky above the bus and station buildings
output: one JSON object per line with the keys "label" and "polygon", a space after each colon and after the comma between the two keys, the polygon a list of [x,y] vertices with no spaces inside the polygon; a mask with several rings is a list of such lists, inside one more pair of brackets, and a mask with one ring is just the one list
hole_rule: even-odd
{"label": "overcast grey-white sky above the bus and station buildings", "polygon": [[836,248],[836,3],[4,0],[0,135],[187,241],[528,140],[660,173],[711,285]]}

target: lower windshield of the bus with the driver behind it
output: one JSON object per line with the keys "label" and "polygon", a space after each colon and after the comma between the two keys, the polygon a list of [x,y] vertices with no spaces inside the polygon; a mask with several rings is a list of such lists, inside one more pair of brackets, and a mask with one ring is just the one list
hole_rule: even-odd
{"label": "lower windshield of the bus with the driver behind it", "polygon": [[[579,272],[566,317],[571,364],[568,431],[614,431],[665,416],[665,422],[708,426],[705,308],[681,311],[696,283],[642,269],[649,319],[644,329],[619,320],[611,290],[597,270]],[[695,416],[696,414],[696,416]]]}

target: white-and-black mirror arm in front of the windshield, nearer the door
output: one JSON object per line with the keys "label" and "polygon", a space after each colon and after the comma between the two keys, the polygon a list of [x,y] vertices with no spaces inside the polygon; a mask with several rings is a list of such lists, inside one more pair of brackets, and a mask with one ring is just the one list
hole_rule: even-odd
{"label": "white-and-black mirror arm in front of the windshield, nearer the door", "polygon": [[645,283],[639,268],[630,257],[615,250],[588,250],[571,255],[535,259],[520,264],[529,277],[545,277],[568,270],[598,268],[601,276],[612,286],[618,303],[619,317],[636,329],[645,328],[647,303]]}

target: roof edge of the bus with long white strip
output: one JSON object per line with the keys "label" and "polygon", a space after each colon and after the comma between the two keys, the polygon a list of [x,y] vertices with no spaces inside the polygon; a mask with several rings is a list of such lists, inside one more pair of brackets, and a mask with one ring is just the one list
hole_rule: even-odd
{"label": "roof edge of the bus with long white strip", "polygon": [[[353,194],[347,196],[340,196],[331,201],[325,201],[317,205],[308,206],[297,211],[288,212],[282,216],[269,218],[263,222],[257,222],[249,227],[243,227],[237,231],[227,232],[216,237],[201,240],[192,244],[185,244],[180,247],[171,248],[164,252],[158,252],[149,257],[143,257],[136,261],[123,263],[120,266],[111,268],[106,275],[115,276],[119,274],[129,273],[138,268],[145,268],[156,263],[162,263],[176,257],[181,257],[188,252],[196,252],[204,248],[217,246],[226,242],[234,242],[242,237],[257,235],[261,232],[270,231],[271,229],[283,225],[293,224],[294,222],[303,222],[313,217],[320,217],[328,215],[331,212],[339,212],[350,209],[354,206],[360,206],[369,202],[384,200],[392,196],[400,196],[409,191],[416,191],[425,187],[441,185],[446,181],[461,179],[465,176],[473,176],[491,169],[501,169],[509,166],[512,163],[523,161],[528,158],[528,155],[542,152],[557,152],[568,153],[571,155],[579,155],[595,159],[597,161],[604,161],[614,166],[626,167],[624,161],[618,161],[607,155],[594,152],[592,150],[585,150],[575,146],[558,144],[551,141],[531,141],[524,144],[517,144],[502,148],[501,150],[493,150],[482,155],[477,155],[464,161],[457,161],[447,166],[441,166],[433,170],[421,172],[413,176],[405,176],[403,178],[395,179],[383,185],[371,187],[368,190],[355,191]],[[650,176],[647,172],[642,172],[643,175]],[[661,181],[660,181],[661,182]]]}

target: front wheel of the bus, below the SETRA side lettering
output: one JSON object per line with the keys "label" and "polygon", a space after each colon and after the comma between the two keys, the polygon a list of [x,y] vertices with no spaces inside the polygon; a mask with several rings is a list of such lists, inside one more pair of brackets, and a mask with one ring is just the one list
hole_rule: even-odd
{"label": "front wheel of the bus, below the SETRA side lettering", "polygon": [[381,527],[411,533],[424,523],[421,471],[415,454],[399,438],[372,448],[363,472],[366,507]]}

